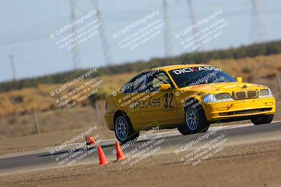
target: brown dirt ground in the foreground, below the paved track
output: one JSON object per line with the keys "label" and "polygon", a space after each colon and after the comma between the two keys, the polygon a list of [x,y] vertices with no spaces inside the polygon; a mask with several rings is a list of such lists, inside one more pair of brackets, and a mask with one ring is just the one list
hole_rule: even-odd
{"label": "brown dirt ground in the foreground, below the paved track", "polygon": [[228,146],[187,167],[175,154],[157,155],[123,169],[82,165],[1,176],[2,186],[280,186],[281,141]]}

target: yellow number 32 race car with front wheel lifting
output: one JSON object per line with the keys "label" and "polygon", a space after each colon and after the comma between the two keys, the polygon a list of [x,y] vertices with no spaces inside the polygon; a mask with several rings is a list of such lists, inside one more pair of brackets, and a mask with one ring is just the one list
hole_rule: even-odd
{"label": "yellow number 32 race car with front wheel lifting", "polygon": [[216,122],[271,123],[275,113],[269,88],[243,83],[241,77],[204,64],[142,71],[106,100],[107,127],[122,143],[155,126],[193,134],[206,132]]}

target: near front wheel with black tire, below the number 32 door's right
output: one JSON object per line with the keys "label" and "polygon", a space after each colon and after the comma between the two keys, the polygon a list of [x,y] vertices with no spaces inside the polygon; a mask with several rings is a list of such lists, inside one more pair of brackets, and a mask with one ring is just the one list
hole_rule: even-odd
{"label": "near front wheel with black tire, below the number 32 door's right", "polygon": [[190,104],[185,107],[185,125],[179,126],[178,131],[183,135],[207,132],[210,123],[205,116],[203,107],[195,99],[190,101],[193,102],[187,102]]}

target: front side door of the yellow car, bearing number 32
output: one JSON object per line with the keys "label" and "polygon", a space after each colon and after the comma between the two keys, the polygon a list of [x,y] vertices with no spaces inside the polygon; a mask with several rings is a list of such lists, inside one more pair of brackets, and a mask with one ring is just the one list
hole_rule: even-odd
{"label": "front side door of the yellow car, bearing number 32", "polygon": [[[159,86],[169,83],[170,90],[160,91]],[[164,71],[154,74],[148,83],[150,85],[150,99],[148,99],[148,113],[150,123],[157,122],[159,125],[169,125],[177,118],[177,104],[174,85]]]}

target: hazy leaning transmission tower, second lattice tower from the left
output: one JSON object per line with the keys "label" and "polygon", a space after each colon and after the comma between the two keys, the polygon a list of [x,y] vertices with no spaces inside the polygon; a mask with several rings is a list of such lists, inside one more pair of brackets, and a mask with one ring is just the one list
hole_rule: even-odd
{"label": "hazy leaning transmission tower, second lattice tower from the left", "polygon": [[96,8],[96,16],[102,23],[100,27],[98,27],[100,32],[100,39],[101,39],[101,46],[103,48],[103,57],[105,58],[105,64],[110,65],[111,64],[111,53],[110,53],[110,46],[107,43],[106,34],[105,34],[105,27],[103,27],[103,19],[100,15],[100,9],[98,8],[97,0],[93,0],[93,6]]}

